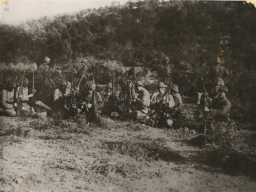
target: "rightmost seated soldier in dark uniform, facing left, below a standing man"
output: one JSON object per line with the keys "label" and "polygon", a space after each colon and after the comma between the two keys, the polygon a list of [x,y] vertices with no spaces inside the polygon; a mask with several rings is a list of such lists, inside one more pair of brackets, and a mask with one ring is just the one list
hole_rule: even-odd
{"label": "rightmost seated soldier in dark uniform, facing left, below a standing man", "polygon": [[215,120],[229,121],[231,102],[226,98],[228,89],[226,86],[221,86],[217,91],[218,96],[212,101],[211,108],[205,107],[204,110]]}

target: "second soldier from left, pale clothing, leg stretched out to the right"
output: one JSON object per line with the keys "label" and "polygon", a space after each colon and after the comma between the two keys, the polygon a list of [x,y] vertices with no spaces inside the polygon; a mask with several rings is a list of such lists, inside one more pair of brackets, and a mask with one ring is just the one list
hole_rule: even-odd
{"label": "second soldier from left, pale clothing, leg stretched out to the right", "polygon": [[[16,98],[18,99],[18,97],[21,98],[22,100],[22,111],[24,112],[29,112],[30,110],[34,112],[34,108],[29,106],[29,98],[30,97],[33,97],[33,94],[28,94],[29,93],[29,90],[28,90],[28,85],[29,85],[29,80],[24,78],[23,80],[23,86],[22,86],[22,92],[19,96],[19,90],[20,90],[20,86],[17,87],[17,90],[16,90]],[[44,103],[42,103],[41,101],[35,101],[34,103],[36,106],[39,106],[43,109],[45,109],[46,111],[51,111],[51,107],[48,107],[47,105],[45,105]]]}

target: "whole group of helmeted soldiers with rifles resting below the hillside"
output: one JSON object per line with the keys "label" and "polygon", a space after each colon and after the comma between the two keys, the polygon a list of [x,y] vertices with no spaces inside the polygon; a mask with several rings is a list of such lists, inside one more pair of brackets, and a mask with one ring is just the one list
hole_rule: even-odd
{"label": "whole group of helmeted soldiers with rifles resting below the hillside", "polygon": [[[49,71],[49,63],[50,58],[45,57],[38,70]],[[85,61],[81,63],[82,68],[77,72],[82,72],[86,66]],[[78,86],[73,85],[73,82],[66,78],[61,78],[52,95],[51,107],[41,101],[33,100],[36,93],[34,84],[33,91],[29,94],[29,80],[24,76],[18,87],[14,80],[9,80],[0,95],[1,113],[3,116],[15,117],[20,112],[34,113],[34,107],[41,107],[47,111],[47,114],[56,118],[84,119],[88,123],[100,123],[102,116],[118,116],[124,119],[143,120],[146,125],[153,127],[172,127],[174,119],[180,117],[180,107],[183,102],[178,85],[173,84],[168,57],[163,58],[162,66],[165,70],[161,74],[158,90],[151,94],[141,81],[131,78],[134,68],[126,70],[123,75],[126,77],[118,81],[120,85],[118,91],[116,91],[114,79],[106,83],[102,91],[97,91],[97,85],[90,75],[87,83],[81,88],[79,85],[84,74],[81,75]],[[228,89],[223,81],[227,76],[226,68],[223,67],[220,57],[217,57],[208,74],[209,102],[204,106],[204,112],[209,118],[226,120],[230,116],[231,102],[226,98]],[[201,95],[205,96],[205,94]]]}

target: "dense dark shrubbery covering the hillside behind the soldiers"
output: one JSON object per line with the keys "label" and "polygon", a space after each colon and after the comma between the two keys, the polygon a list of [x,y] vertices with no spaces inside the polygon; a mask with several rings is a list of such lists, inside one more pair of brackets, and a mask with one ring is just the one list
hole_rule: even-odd
{"label": "dense dark shrubbery covering the hillside behind the soldiers", "polygon": [[[99,72],[97,83],[104,84],[112,64],[158,70],[166,55],[171,57],[174,72],[200,72],[204,63],[210,64],[224,50],[233,115],[252,118],[256,112],[255,23],[256,9],[246,2],[127,2],[57,15],[53,20],[30,20],[20,26],[1,24],[0,61],[2,68],[15,65],[21,69],[24,64],[39,64],[46,55],[60,67],[76,65],[87,57]],[[117,69],[116,73],[121,72]],[[198,79],[191,76],[174,75],[174,83],[182,94],[198,88]]]}

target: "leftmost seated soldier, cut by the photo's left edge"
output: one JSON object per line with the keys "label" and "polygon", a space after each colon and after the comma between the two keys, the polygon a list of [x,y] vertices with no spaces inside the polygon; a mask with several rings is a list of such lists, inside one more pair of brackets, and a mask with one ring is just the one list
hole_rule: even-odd
{"label": "leftmost seated soldier, cut by the photo's left edge", "polygon": [[7,117],[16,116],[16,112],[14,109],[14,105],[15,105],[15,107],[17,107],[17,103],[14,103],[14,88],[15,87],[16,87],[16,84],[13,80],[8,81],[8,83],[6,85],[6,89],[3,89],[1,91],[0,107],[1,107],[1,113],[3,114],[3,116],[7,116]]}

